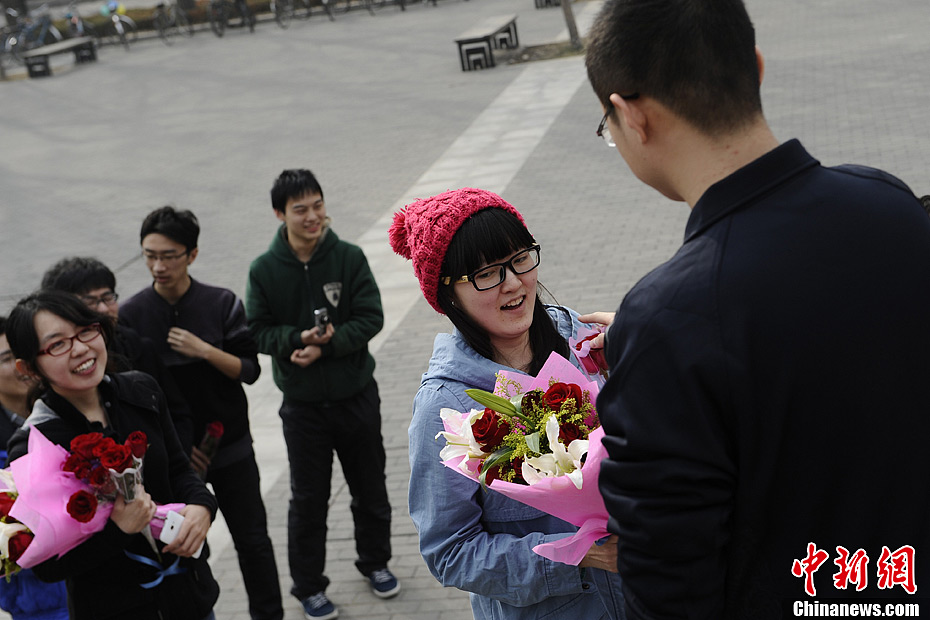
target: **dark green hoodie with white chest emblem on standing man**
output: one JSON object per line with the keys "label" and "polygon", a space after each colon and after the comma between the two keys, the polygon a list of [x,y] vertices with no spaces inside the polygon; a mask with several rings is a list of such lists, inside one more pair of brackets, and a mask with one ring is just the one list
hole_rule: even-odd
{"label": "dark green hoodie with white chest emblem on standing man", "polygon": [[[381,294],[362,249],[326,229],[306,263],[278,229],[268,251],[252,261],[245,293],[249,329],[272,359],[274,381],[287,400],[326,403],[358,394],[372,379],[368,341],[381,331]],[[323,356],[306,368],[291,363],[300,332],[327,308],[335,333]]]}

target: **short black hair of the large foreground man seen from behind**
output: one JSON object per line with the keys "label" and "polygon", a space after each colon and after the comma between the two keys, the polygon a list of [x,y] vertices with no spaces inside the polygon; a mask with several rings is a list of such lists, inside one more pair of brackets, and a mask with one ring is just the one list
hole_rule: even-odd
{"label": "short black hair of the large foreground man seen from behind", "polygon": [[611,94],[638,93],[726,135],[762,113],[755,46],[742,0],[607,0],[585,64],[608,110]]}

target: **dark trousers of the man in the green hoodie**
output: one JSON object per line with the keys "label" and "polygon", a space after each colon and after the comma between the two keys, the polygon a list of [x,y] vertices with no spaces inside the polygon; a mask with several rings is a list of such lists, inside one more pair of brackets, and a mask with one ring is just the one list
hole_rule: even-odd
{"label": "dark trousers of the man in the green hoodie", "polygon": [[384,476],[381,399],[374,380],[343,401],[310,404],[285,401],[281,421],[291,465],[287,552],[294,587],[303,600],[326,589],[326,514],[333,450],[352,495],[356,568],[363,575],[391,559],[391,504]]}

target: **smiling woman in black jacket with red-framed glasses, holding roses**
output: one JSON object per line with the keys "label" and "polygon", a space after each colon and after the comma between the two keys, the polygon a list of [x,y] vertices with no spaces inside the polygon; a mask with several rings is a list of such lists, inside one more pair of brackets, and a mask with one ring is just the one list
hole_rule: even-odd
{"label": "smiling woman in black jacket with red-framed glasses, holding roses", "polygon": [[[193,555],[216,514],[216,499],[191,468],[158,384],[142,372],[107,369],[113,322],[70,293],[44,290],[26,297],[6,327],[17,370],[35,380],[27,403],[30,425],[10,439],[10,461],[27,453],[29,434],[36,431],[66,450],[85,433],[123,445],[141,431],[148,445],[135,499],[117,495],[103,529],[33,567],[36,576],[66,582],[76,620],[212,618],[219,586],[207,554]],[[156,502],[185,504],[178,510],[184,517],[178,537],[158,552],[142,534]],[[106,596],[99,595],[101,583]]]}

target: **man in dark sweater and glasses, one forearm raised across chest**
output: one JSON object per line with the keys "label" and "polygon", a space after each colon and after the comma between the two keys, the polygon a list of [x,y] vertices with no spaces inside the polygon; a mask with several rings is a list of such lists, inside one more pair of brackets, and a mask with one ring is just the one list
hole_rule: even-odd
{"label": "man in dark sweater and glasses, one forearm raised across chest", "polygon": [[[155,209],[142,222],[142,256],[152,286],[136,293],[120,320],[151,338],[191,407],[194,468],[213,487],[239,556],[239,569],[253,620],[281,620],[281,586],[258,465],[249,429],[249,403],[242,383],[261,369],[245,308],[232,291],[191,277],[198,255],[200,223],[190,211]],[[208,424],[219,422],[219,450],[201,447]]]}

